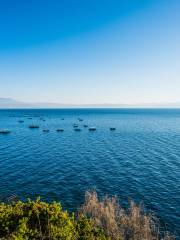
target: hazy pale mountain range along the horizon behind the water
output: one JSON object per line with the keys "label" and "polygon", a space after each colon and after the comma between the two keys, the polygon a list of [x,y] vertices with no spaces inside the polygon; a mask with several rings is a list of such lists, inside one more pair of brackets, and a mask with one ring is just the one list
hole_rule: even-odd
{"label": "hazy pale mountain range along the horizon behind the water", "polygon": [[11,98],[0,98],[0,108],[180,108],[179,103],[140,103],[140,104],[61,104],[61,103],[26,103]]}

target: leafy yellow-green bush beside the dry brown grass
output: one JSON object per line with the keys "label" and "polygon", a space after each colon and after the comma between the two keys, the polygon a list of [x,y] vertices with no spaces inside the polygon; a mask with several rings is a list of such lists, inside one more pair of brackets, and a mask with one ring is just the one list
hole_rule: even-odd
{"label": "leafy yellow-green bush beside the dry brown grass", "polygon": [[0,239],[105,240],[102,230],[81,215],[75,219],[59,203],[37,199],[0,203]]}

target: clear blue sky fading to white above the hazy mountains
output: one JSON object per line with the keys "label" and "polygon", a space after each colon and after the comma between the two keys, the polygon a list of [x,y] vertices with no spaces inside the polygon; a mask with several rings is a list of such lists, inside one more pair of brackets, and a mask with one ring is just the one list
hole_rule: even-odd
{"label": "clear blue sky fading to white above the hazy mountains", "polygon": [[0,97],[180,102],[180,1],[0,0]]}

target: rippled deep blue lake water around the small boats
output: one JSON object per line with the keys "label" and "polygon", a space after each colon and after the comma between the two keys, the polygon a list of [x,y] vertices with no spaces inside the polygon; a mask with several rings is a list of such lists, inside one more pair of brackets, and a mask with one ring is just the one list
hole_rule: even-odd
{"label": "rippled deep blue lake water around the small boats", "polygon": [[0,110],[0,128],[12,130],[0,134],[1,200],[40,195],[74,210],[96,189],[142,201],[180,236],[180,110]]}

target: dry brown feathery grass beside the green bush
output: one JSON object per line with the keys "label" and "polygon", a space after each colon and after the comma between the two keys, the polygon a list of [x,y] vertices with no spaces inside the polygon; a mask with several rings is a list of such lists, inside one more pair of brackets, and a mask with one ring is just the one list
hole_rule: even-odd
{"label": "dry brown feathery grass beside the green bush", "polygon": [[106,196],[99,200],[96,192],[87,192],[80,213],[90,217],[94,224],[103,228],[111,240],[171,240],[168,233],[159,233],[155,218],[146,214],[133,201],[124,210],[116,197]]}

